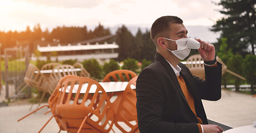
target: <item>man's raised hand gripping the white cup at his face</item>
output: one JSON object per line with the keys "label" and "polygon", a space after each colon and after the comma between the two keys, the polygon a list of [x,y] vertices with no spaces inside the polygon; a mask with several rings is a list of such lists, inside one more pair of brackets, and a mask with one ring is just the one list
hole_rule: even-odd
{"label": "man's raised hand gripping the white cup at his face", "polygon": [[200,48],[198,49],[201,57],[204,61],[211,61],[215,59],[215,48],[213,44],[204,42],[200,39],[195,39],[200,43]]}

